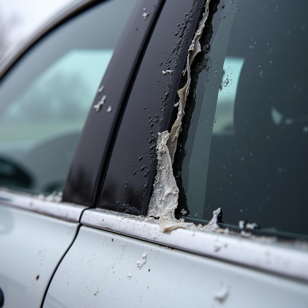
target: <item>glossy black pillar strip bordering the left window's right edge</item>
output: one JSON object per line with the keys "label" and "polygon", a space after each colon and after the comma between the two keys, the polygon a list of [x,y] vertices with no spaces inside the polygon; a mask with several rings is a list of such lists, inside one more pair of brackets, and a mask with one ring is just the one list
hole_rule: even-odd
{"label": "glossy black pillar strip bordering the left window's right edge", "polygon": [[[103,77],[104,90],[94,104],[106,95],[99,112],[91,108],[71,165],[63,201],[94,206],[105,177],[112,140],[135,80],[140,61],[164,0],[140,0],[133,9]],[[144,8],[150,14],[144,19]],[[112,111],[106,112],[111,105]]]}

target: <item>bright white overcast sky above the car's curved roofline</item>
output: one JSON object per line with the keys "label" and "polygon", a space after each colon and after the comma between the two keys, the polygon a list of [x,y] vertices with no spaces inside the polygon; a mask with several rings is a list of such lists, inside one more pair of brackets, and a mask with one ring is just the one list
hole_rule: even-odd
{"label": "bright white overcast sky above the car's curved roofline", "polygon": [[9,31],[10,45],[33,33],[57,12],[76,0],[0,0],[2,22],[15,17],[18,22]]}

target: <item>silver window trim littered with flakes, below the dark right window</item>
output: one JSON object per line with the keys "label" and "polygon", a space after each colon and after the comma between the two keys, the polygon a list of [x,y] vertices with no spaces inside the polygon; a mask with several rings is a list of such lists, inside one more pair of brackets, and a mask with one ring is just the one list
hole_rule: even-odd
{"label": "silver window trim littered with flakes, below the dark right window", "polygon": [[[308,282],[308,245],[278,241],[274,237],[249,238],[239,233],[217,234],[198,229],[177,228],[163,233],[157,220],[104,209],[87,209],[81,223],[129,237],[166,245],[182,251],[230,262],[239,266]],[[185,223],[186,224],[186,223]],[[287,266],[286,266],[287,264]]]}

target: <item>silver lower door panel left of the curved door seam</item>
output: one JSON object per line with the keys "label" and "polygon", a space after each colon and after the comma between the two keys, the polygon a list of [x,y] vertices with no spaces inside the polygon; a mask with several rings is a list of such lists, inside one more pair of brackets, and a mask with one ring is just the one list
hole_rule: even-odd
{"label": "silver lower door panel left of the curved door seam", "polygon": [[39,307],[52,274],[74,241],[77,222],[0,204],[3,307]]}

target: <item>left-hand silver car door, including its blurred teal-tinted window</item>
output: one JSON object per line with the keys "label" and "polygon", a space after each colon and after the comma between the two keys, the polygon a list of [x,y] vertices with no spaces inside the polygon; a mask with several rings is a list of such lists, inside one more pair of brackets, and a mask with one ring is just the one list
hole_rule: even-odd
{"label": "left-hand silver car door, including its blurred teal-tinted window", "polygon": [[[0,306],[40,307],[75,239],[87,205],[61,202],[62,191],[73,185],[67,175],[80,133],[134,5],[73,5],[2,67]],[[96,116],[108,116],[110,103]]]}

